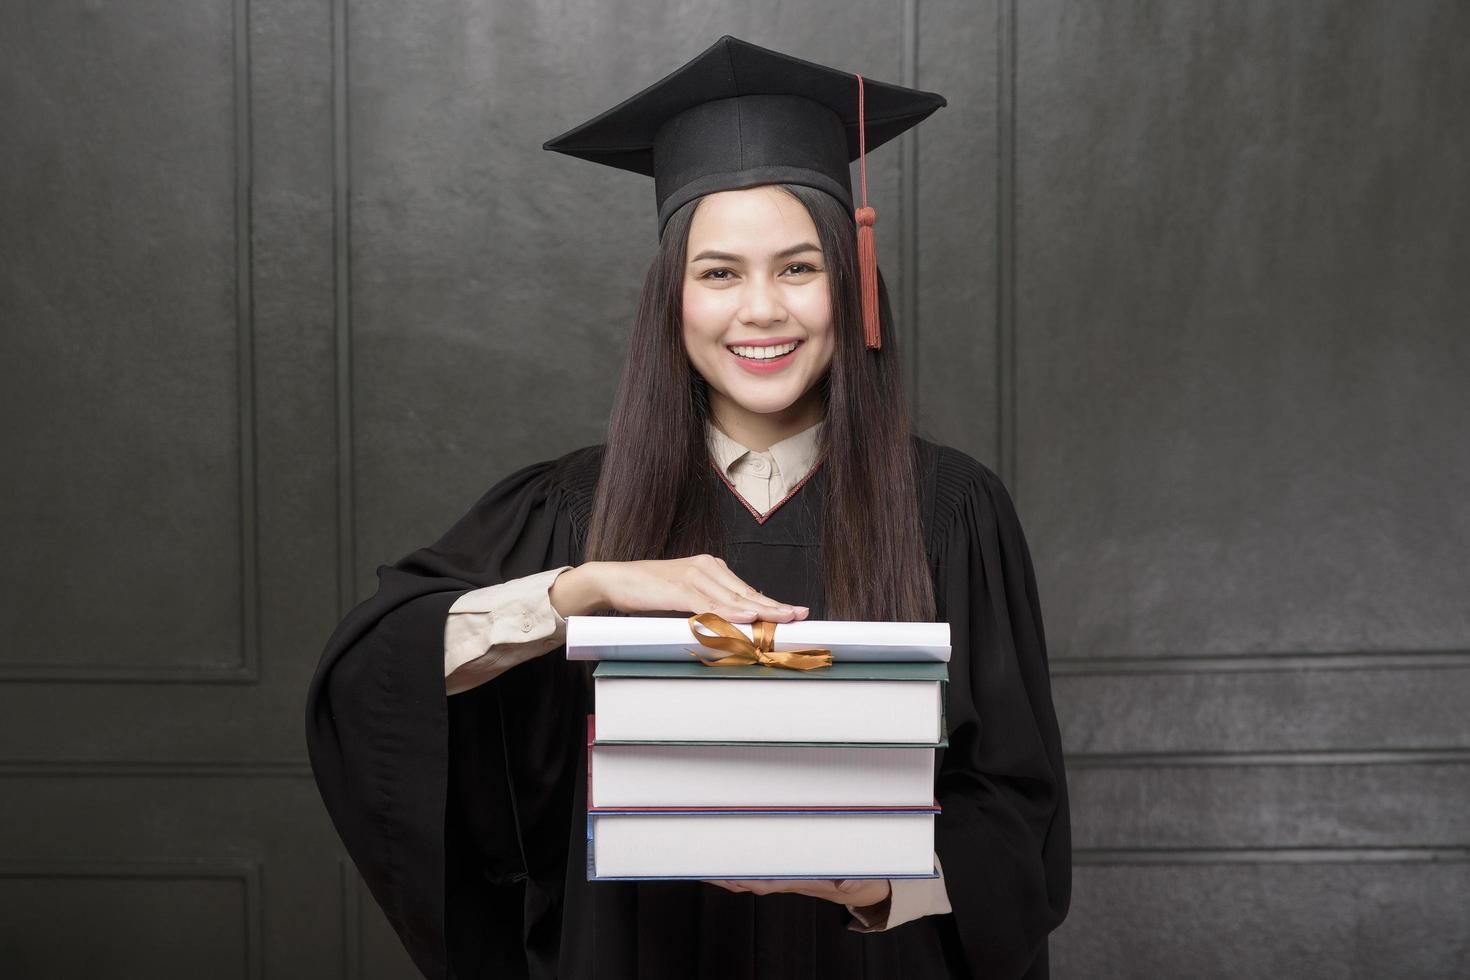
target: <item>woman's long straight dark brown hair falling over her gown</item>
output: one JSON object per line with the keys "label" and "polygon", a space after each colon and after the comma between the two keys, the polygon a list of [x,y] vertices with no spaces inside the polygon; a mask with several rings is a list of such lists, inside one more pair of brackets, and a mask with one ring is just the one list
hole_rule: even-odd
{"label": "woman's long straight dark brown hair falling over her gown", "polygon": [[[826,616],[929,621],[933,585],[888,288],[879,275],[883,345],[867,350],[851,212],[823,191],[778,187],[811,215],[832,292],[833,353],[819,382],[826,425],[817,448],[829,491],[822,505]],[[685,253],[697,206],[698,198],[669,217],[644,279],[592,505],[589,561],[723,552],[716,495],[728,491],[706,448],[709,385],[684,348]]]}

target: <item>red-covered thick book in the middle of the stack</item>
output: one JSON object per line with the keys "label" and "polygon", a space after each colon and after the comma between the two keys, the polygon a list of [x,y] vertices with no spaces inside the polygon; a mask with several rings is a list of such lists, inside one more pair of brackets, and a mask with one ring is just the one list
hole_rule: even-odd
{"label": "red-covered thick book in the middle of the stack", "polygon": [[931,746],[589,746],[592,807],[928,807]]}

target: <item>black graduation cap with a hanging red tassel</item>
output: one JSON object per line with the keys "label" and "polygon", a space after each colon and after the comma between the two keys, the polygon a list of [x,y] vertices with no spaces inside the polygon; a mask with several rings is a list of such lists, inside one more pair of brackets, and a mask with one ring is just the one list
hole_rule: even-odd
{"label": "black graduation cap with a hanging red tassel", "polygon": [[848,165],[860,162],[857,222],[863,335],[878,336],[876,213],[867,206],[867,150],[933,110],[944,96],[864,79],[725,35],[694,60],[542,144],[654,179],[659,235],[697,197],[761,184],[801,184],[853,209]]}

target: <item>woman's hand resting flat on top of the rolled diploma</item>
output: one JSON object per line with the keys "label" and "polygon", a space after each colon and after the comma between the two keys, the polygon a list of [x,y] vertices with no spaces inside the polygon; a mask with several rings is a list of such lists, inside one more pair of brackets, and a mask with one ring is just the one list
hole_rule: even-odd
{"label": "woman's hand resting flat on top of the rolled diploma", "polygon": [[810,610],[769,599],[723,558],[691,555],[660,561],[588,561],[551,583],[551,605],[564,619],[619,613],[717,613],[731,623],[789,623]]}

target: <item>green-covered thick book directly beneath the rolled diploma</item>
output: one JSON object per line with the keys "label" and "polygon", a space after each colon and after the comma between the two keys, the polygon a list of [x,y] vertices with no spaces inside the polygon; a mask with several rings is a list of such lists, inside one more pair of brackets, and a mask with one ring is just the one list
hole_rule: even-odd
{"label": "green-covered thick book directly beneath the rolled diploma", "polygon": [[604,661],[592,674],[603,742],[941,745],[945,664],[709,667]]}

